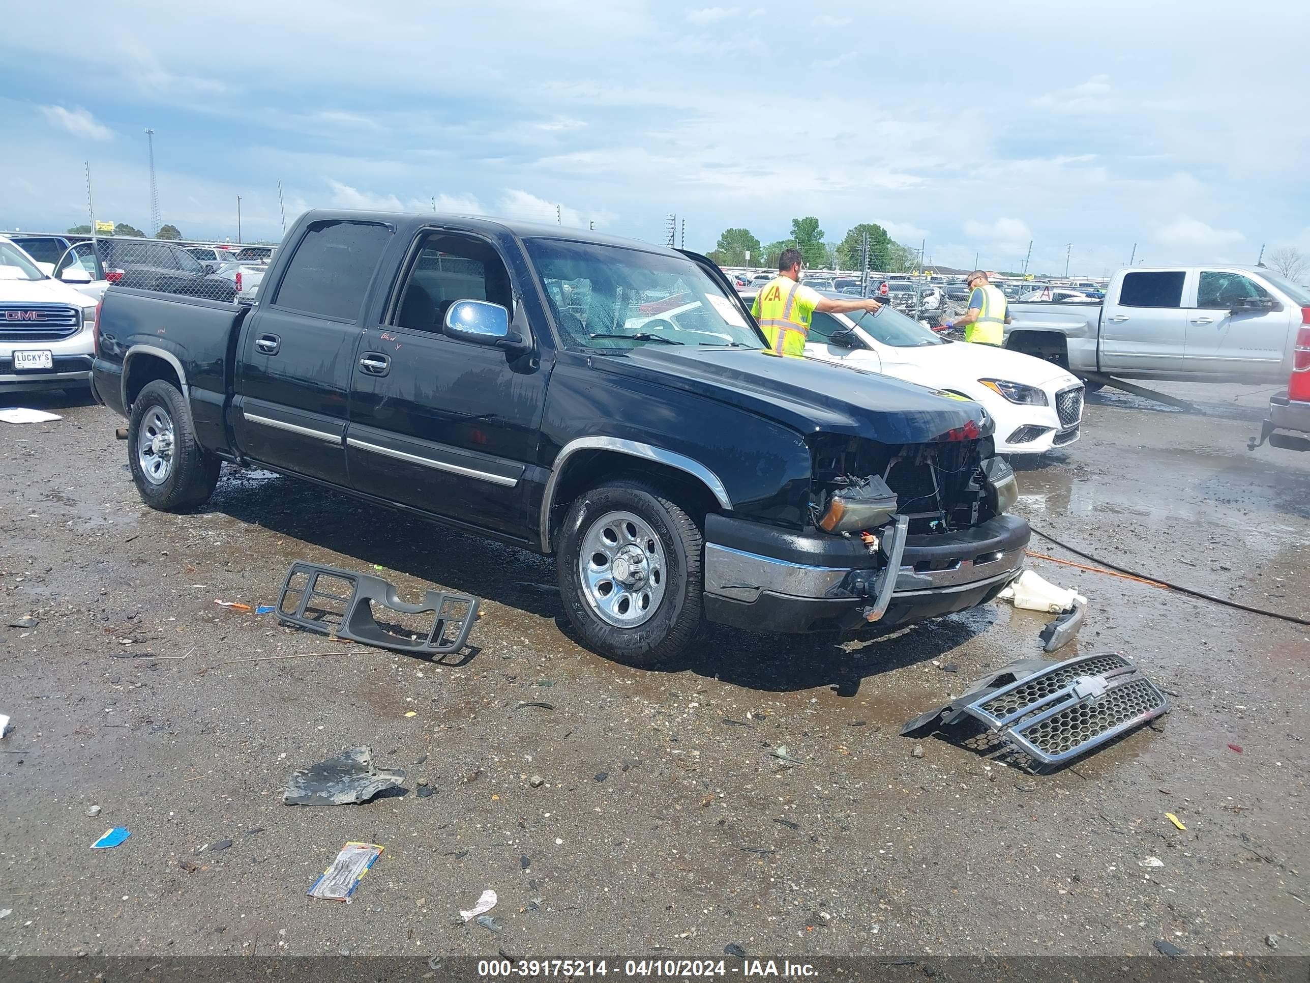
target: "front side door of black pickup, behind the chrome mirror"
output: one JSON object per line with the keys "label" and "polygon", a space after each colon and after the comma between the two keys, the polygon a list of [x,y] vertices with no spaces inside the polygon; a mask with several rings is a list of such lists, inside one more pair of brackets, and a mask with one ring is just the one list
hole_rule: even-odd
{"label": "front side door of black pickup, behind the chrome mirror", "polygon": [[351,366],[350,482],[521,537],[536,523],[524,477],[537,456],[549,372],[534,353],[443,332],[456,300],[487,300],[531,338],[521,284],[494,244],[445,229],[419,235],[397,284]]}

